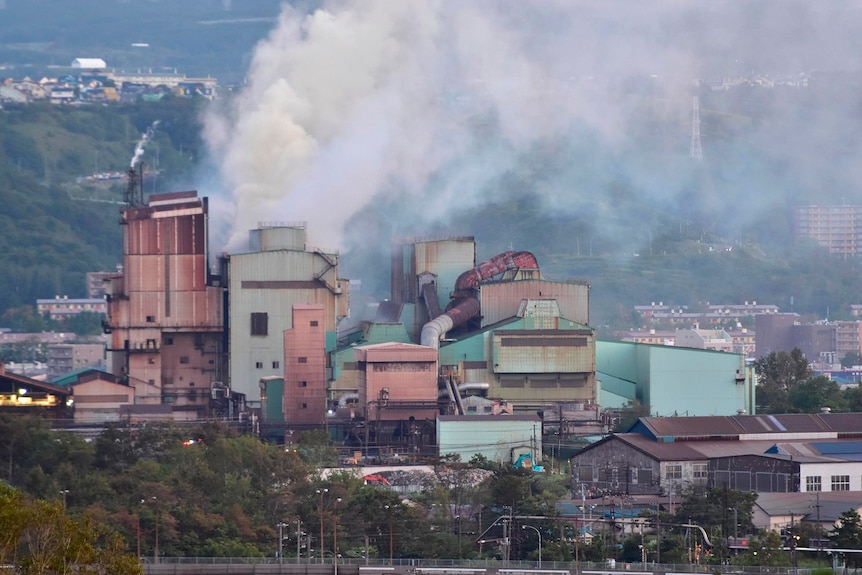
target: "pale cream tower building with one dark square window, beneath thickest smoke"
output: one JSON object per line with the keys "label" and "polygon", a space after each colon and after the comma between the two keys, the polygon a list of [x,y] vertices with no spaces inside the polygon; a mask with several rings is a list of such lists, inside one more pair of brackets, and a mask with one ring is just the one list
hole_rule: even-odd
{"label": "pale cream tower building with one dark square window, beneath thickest smoke", "polygon": [[[322,328],[315,332],[323,337],[323,347],[314,351],[314,357],[320,358],[335,349],[338,321],[349,315],[350,290],[349,282],[338,275],[336,252],[306,247],[304,223],[262,225],[251,231],[249,239],[248,252],[226,255],[224,260],[230,388],[245,395],[249,407],[259,408],[261,378],[285,377],[290,388],[284,332],[300,329],[294,322],[296,306],[321,306],[321,317],[309,320]],[[309,359],[297,356],[297,367],[302,357]],[[294,360],[291,362],[293,365]],[[299,381],[311,385],[312,380]],[[289,403],[285,403],[286,408]],[[323,422],[325,403],[306,409],[300,418],[303,423]]]}

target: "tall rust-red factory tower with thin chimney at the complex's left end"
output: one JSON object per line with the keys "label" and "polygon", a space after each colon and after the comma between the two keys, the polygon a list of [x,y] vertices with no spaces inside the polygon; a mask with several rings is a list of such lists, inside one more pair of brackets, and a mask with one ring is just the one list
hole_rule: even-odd
{"label": "tall rust-red factory tower with thin chimney at the complex's left end", "polygon": [[144,201],[130,170],[121,210],[123,268],[107,280],[111,371],[141,406],[169,405],[174,419],[212,412],[224,381],[219,279],[207,264],[207,201],[197,192]]}

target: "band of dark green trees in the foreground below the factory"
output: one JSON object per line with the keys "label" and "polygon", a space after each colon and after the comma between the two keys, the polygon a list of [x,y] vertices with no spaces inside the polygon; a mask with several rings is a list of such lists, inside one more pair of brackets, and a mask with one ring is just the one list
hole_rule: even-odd
{"label": "band of dark green trees in the foreground below the factory", "polygon": [[[110,556],[122,559],[118,573],[134,573],[138,557],[536,560],[533,529],[548,561],[790,561],[786,539],[753,533],[753,493],[694,486],[670,509],[639,508],[624,494],[609,494],[601,509],[563,516],[557,504],[571,497],[567,472],[444,456],[429,462],[433,474],[413,479],[421,490],[404,494],[346,469],[324,478],[320,469],[337,460],[323,431],[303,433],[287,448],[222,423],[117,426],[87,441],[39,418],[3,415],[0,561],[62,573],[58,566],[70,561]],[[800,526],[794,541],[862,545],[854,513],[828,533]],[[53,546],[45,553],[54,563],[37,561],[33,549],[42,547],[31,548],[34,533]],[[727,546],[736,533],[750,539],[739,555]]]}

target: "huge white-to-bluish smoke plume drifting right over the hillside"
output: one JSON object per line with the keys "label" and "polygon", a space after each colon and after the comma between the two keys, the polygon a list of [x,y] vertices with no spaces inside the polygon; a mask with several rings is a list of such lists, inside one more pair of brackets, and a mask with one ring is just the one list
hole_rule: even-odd
{"label": "huge white-to-bluish smoke plume drifting right over the hillside", "polygon": [[[836,104],[808,85],[860,68],[862,14],[848,6],[286,7],[243,92],[207,119],[224,188],[214,206],[232,222],[224,242],[241,248],[261,221],[307,221],[312,244],[350,249],[372,232],[447,231],[441,222],[453,214],[514,192],[549,215],[605,222],[599,237],[650,233],[643,211],[621,219],[632,198],[656,213],[711,212],[741,225],[776,203],[822,197],[824,182],[852,182],[862,165],[858,120],[842,120],[856,100]],[[722,104],[695,82],[722,78],[760,83]],[[701,163],[688,157],[696,94],[705,96]],[[747,98],[766,116],[749,117]],[[614,183],[622,199],[609,195]],[[387,229],[354,219],[369,209]]]}

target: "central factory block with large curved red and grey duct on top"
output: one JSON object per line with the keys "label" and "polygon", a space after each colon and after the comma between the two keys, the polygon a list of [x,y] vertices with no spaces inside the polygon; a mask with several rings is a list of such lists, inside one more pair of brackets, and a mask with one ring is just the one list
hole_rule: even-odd
{"label": "central factory block with large curved red and grey duct on top", "polygon": [[[598,430],[589,284],[543,279],[528,252],[478,264],[475,253],[472,237],[393,244],[392,300],[330,354],[335,439],[436,454],[438,416],[491,413],[538,413],[548,432]],[[487,405],[468,409],[468,397]]]}

